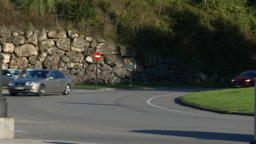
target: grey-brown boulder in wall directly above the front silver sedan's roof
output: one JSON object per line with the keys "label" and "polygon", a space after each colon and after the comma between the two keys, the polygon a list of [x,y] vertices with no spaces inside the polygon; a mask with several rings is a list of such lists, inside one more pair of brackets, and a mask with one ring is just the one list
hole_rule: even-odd
{"label": "grey-brown boulder in wall directly above the front silver sedan's roof", "polygon": [[42,65],[45,69],[58,69],[60,62],[60,58],[56,56],[47,56],[44,61],[42,62]]}

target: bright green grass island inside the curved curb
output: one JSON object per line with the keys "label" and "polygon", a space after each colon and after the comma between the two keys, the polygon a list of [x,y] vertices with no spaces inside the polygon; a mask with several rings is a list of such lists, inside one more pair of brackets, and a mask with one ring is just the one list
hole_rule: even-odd
{"label": "bright green grass island inside the curved curb", "polygon": [[194,92],[182,99],[190,104],[229,112],[254,113],[254,88]]}

